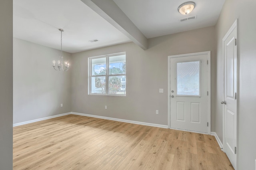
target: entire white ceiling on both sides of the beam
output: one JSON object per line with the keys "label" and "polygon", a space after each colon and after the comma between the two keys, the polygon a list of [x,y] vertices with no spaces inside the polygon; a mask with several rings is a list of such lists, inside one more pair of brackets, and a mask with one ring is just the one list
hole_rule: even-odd
{"label": "entire white ceiling on both sides of the beam", "polygon": [[[179,22],[187,16],[177,11],[186,0],[113,1],[146,38],[154,38],[214,26],[225,0],[194,0],[187,16],[197,19],[187,22]],[[62,49],[70,53],[132,41],[80,0],[13,0],[13,13],[15,38],[60,49],[62,28]],[[94,39],[99,41],[89,42]]]}

